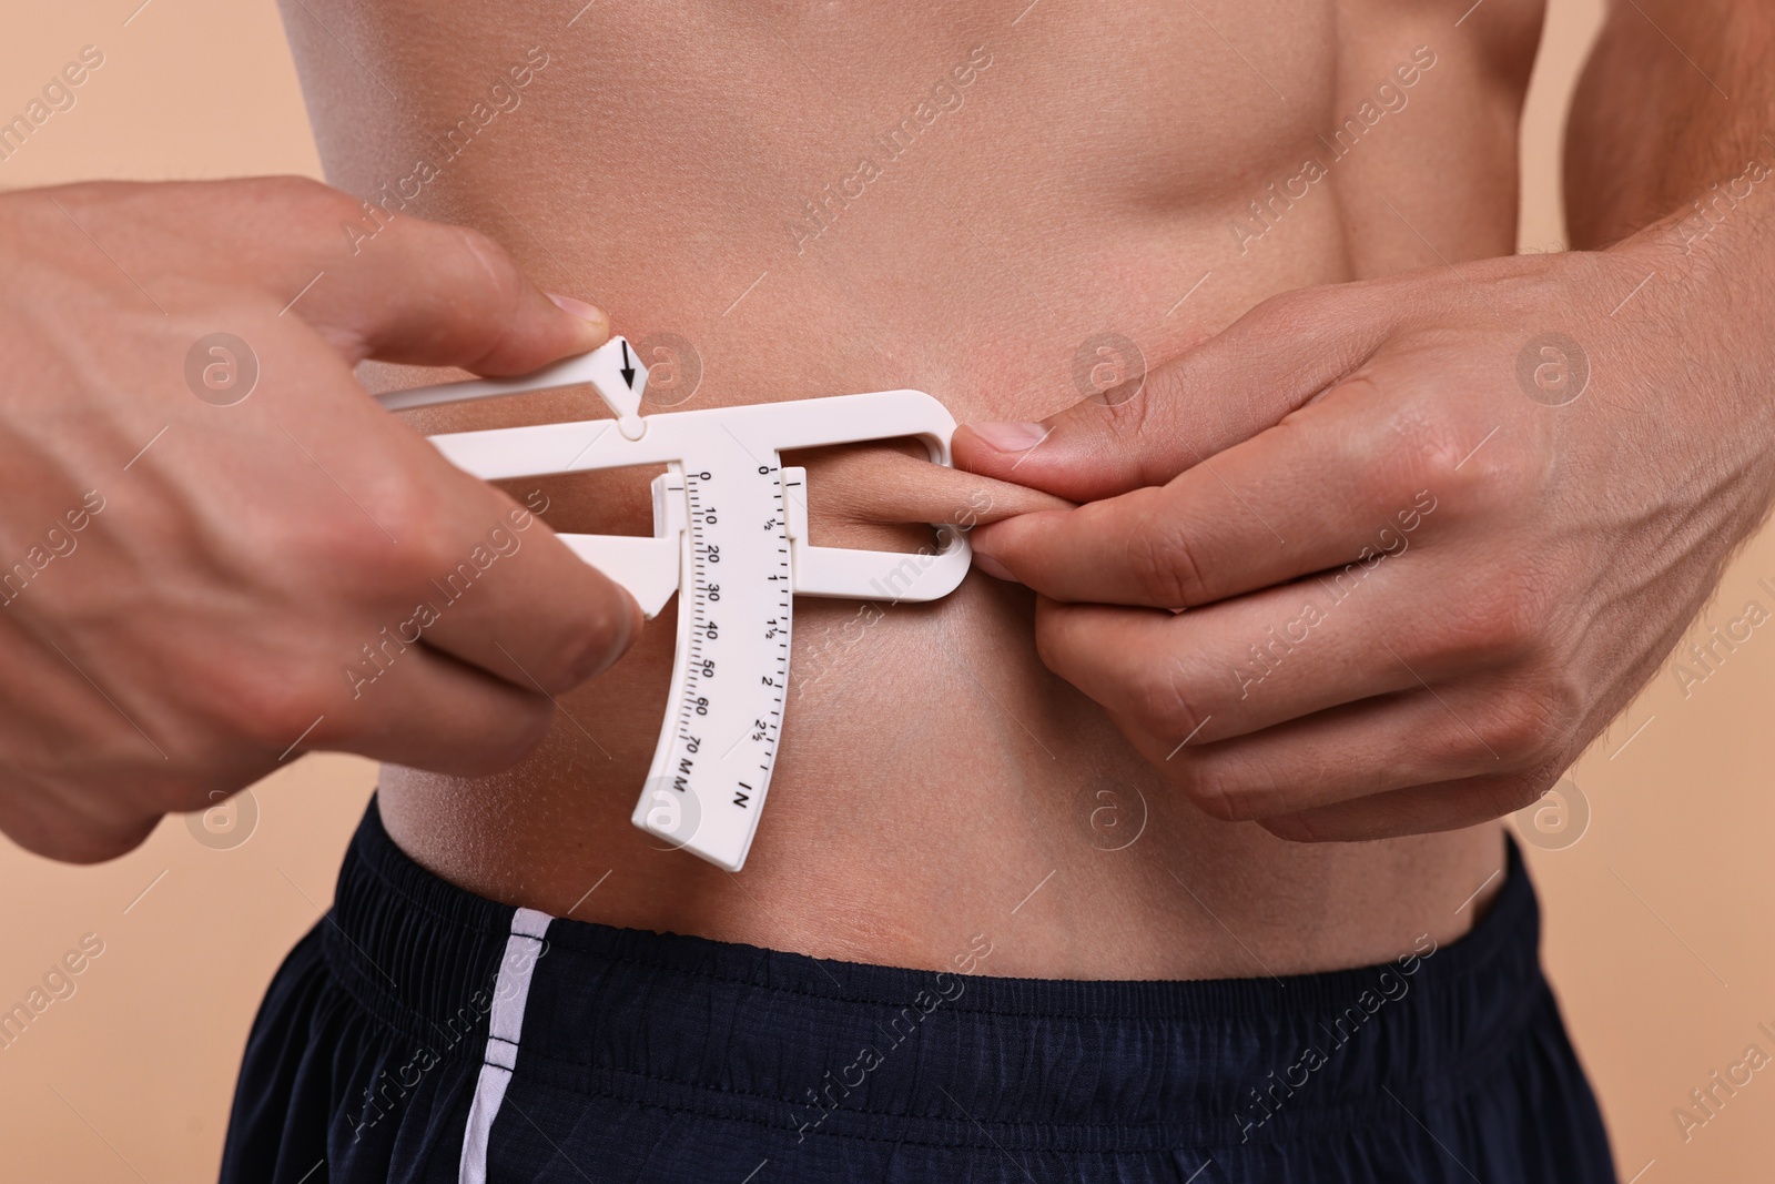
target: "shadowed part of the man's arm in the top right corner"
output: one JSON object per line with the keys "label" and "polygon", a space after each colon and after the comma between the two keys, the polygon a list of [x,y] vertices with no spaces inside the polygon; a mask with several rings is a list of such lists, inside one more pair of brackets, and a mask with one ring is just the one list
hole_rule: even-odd
{"label": "shadowed part of the man's arm in the top right corner", "polygon": [[[1743,202],[1740,233],[1761,238],[1775,185],[1755,183],[1748,199],[1747,188],[1775,169],[1771,53],[1775,7],[1763,0],[1613,0],[1566,130],[1573,247],[1706,213],[1697,202],[1716,213]],[[1740,179],[1754,160],[1761,169]]]}

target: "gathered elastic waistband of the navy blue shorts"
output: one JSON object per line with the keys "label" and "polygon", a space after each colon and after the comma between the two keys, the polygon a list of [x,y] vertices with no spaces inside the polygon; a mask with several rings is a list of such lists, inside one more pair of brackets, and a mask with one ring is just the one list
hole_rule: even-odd
{"label": "gathered elastic waistband of the navy blue shorts", "polygon": [[[513,914],[417,866],[371,802],[325,957],[378,1022],[472,1062]],[[1294,1138],[1477,1088],[1550,1006],[1537,946],[1514,843],[1461,941],[1283,978],[996,978],[552,920],[515,1072],[802,1134],[891,1120],[895,1138],[1006,1147]]]}

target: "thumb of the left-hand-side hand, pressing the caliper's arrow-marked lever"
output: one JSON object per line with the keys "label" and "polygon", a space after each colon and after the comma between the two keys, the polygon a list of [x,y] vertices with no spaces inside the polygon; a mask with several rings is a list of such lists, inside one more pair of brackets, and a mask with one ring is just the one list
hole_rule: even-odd
{"label": "thumb of the left-hand-side hand, pressing the caliper's arrow-marked lever", "polygon": [[543,293],[479,231],[398,215],[360,247],[295,304],[353,366],[524,375],[611,335],[602,309]]}

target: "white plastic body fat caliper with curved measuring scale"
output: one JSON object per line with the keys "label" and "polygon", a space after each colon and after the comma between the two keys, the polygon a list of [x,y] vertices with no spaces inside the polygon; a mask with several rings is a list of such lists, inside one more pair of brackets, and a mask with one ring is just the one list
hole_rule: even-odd
{"label": "white plastic body fat caliper with curved measuring scale", "polygon": [[918,437],[950,463],[955,419],[923,391],[641,415],[646,366],[621,337],[522,378],[378,396],[389,410],[591,383],[616,419],[435,435],[458,469],[495,481],[666,465],[653,479],[653,538],[561,534],[628,589],[651,620],[678,600],[671,698],[634,824],[738,872],[770,788],[788,706],[795,595],[935,600],[967,575],[967,541],[934,554],[808,541],[806,470],[779,454],[822,444]]}

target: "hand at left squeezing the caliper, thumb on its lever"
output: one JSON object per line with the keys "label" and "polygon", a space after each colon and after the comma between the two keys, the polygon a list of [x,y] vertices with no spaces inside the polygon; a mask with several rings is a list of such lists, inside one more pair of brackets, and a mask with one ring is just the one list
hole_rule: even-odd
{"label": "hand at left squeezing the caliper, thumb on its lever", "polygon": [[122,854],[307,749],[493,772],[639,630],[351,373],[518,375],[602,344],[604,314],[474,231],[344,224],[376,225],[300,179],[0,195],[0,831],[23,847]]}

